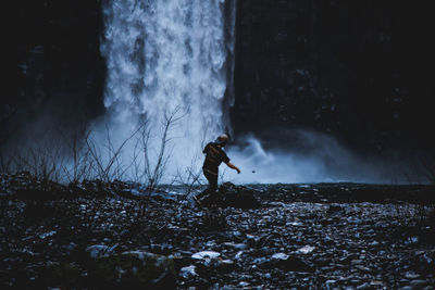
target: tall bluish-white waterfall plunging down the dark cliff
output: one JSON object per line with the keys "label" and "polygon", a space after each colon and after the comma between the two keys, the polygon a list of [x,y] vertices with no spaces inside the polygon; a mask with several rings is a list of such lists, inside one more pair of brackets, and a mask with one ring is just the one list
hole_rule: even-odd
{"label": "tall bluish-white waterfall plunging down the dark cliff", "polygon": [[[228,118],[223,106],[234,98],[235,5],[235,0],[104,4],[101,52],[112,139],[122,142],[144,117],[158,136],[165,114],[178,110],[167,153],[169,167],[179,171],[201,154],[204,142],[224,131]],[[150,148],[158,151],[159,138],[151,140]]]}

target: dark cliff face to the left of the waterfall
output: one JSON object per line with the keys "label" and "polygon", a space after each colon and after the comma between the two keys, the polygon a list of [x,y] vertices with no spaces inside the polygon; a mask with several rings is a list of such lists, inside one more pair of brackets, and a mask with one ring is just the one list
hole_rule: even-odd
{"label": "dark cliff face to the left of the waterfall", "polygon": [[1,99],[1,139],[65,129],[103,110],[99,0],[20,1],[16,90]]}

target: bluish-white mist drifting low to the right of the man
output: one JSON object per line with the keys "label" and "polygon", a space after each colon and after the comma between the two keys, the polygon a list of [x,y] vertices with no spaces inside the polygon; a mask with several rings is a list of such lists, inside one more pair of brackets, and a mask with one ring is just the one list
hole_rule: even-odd
{"label": "bluish-white mist drifting low to the right of the man", "polygon": [[264,149],[253,135],[238,138],[243,146],[233,146],[227,153],[241,174],[226,169],[225,177],[237,184],[410,182],[403,174],[405,162],[359,155],[324,134],[308,130],[295,134],[302,139],[299,150]]}

